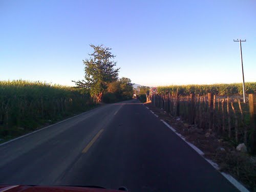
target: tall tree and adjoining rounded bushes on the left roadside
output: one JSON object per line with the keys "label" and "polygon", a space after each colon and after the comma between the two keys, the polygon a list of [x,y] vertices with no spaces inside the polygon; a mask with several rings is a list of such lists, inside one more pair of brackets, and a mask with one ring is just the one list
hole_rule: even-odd
{"label": "tall tree and adjoining rounded bushes on the left roadside", "polygon": [[78,88],[88,90],[95,102],[111,103],[131,99],[133,96],[133,84],[131,79],[118,78],[120,68],[116,67],[113,60],[115,55],[110,48],[90,45],[93,53],[90,58],[83,60],[84,79],[73,81]]}

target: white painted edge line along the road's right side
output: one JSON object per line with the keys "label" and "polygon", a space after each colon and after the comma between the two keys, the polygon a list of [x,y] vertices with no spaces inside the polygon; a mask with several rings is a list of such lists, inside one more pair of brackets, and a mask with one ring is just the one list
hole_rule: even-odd
{"label": "white painted edge line along the road's right side", "polygon": [[[201,155],[203,157],[204,153],[199,150],[199,148],[197,148],[195,145],[193,145],[192,143],[189,143],[185,140],[184,137],[182,137],[181,134],[177,133],[176,130],[170,126],[168,123],[166,123],[164,120],[161,119],[161,121],[167,126],[169,127],[170,130],[172,130],[174,133],[176,133],[182,140],[184,140],[190,147],[192,147],[199,155]],[[215,169],[219,170],[219,165],[209,159],[206,159],[205,157],[203,157],[211,166],[213,166]],[[235,187],[237,187],[241,192],[249,192],[249,190],[247,188],[245,188],[240,182],[238,182],[236,179],[234,179],[231,175],[226,174],[221,172],[221,174],[230,182],[232,183]]]}

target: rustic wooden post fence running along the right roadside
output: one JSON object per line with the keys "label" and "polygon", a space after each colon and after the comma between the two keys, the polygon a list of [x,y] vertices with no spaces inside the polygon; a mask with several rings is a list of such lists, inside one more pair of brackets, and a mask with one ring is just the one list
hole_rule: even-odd
{"label": "rustic wooden post fence running along the right roadside", "polygon": [[[229,97],[216,100],[212,93],[208,93],[206,98],[195,94],[181,97],[165,92],[152,95],[152,104],[172,116],[181,117],[185,122],[197,124],[200,129],[228,137],[236,143],[249,144],[253,150],[256,149],[255,98],[255,94],[249,94],[249,103],[241,103],[240,99],[231,102]],[[247,134],[249,129],[250,136]]]}

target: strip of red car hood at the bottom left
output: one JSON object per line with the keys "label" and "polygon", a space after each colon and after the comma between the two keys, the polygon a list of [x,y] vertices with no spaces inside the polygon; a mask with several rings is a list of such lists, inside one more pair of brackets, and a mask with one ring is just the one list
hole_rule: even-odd
{"label": "strip of red car hood at the bottom left", "polygon": [[86,192],[118,192],[119,190],[101,189],[92,187],[75,187],[75,186],[30,186],[30,185],[0,185],[0,192],[42,192],[42,191],[86,191]]}

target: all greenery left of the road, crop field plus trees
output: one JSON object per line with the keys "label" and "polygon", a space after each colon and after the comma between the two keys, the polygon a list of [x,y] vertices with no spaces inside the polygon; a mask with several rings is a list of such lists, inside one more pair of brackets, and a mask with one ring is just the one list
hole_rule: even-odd
{"label": "all greenery left of the road, crop field plus trees", "polygon": [[99,102],[132,99],[129,78],[118,78],[110,48],[90,45],[77,87],[25,80],[0,81],[0,142],[94,108]]}

